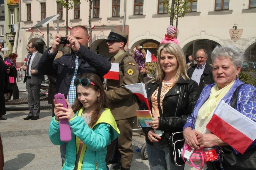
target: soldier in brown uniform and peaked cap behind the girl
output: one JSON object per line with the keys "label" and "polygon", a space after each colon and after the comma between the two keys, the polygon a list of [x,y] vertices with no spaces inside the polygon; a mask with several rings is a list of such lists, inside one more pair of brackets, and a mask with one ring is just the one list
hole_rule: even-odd
{"label": "soldier in brown uniform and peaked cap behind the girl", "polygon": [[[139,75],[138,65],[133,57],[129,55],[128,51],[124,50],[127,37],[128,34],[118,31],[117,29],[112,29],[106,40],[109,53],[113,55],[109,59],[111,63],[120,63],[123,61],[123,58],[126,57],[123,63],[123,71],[121,71],[119,67],[119,80],[107,79],[105,81],[107,98],[111,103],[112,114],[120,130],[117,148],[121,154],[121,170],[130,169],[132,163],[133,122],[136,116],[135,111],[139,110],[133,93],[123,87],[128,84],[136,84]],[[108,146],[107,161],[114,150],[115,143],[116,141],[113,141]]]}

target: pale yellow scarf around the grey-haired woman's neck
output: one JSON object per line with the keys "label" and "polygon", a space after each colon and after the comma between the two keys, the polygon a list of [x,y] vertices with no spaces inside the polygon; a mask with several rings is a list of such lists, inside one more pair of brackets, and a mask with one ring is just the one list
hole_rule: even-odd
{"label": "pale yellow scarf around the grey-haired woman's neck", "polygon": [[207,106],[204,108],[201,108],[202,109],[201,114],[198,115],[200,116],[201,119],[205,119],[215,110],[215,108],[217,107],[221,99],[227,94],[227,92],[230,90],[234,82],[235,81],[232,81],[229,85],[225,86],[222,89],[219,89],[217,84],[215,84],[212,87],[210,96],[207,99],[208,100]]}

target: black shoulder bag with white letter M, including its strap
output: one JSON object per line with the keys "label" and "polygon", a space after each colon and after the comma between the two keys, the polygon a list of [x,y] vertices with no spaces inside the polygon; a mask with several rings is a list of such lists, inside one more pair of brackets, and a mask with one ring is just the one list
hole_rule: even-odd
{"label": "black shoulder bag with white letter M, including its strap", "polygon": [[[160,95],[161,95],[161,89],[162,89],[162,83],[158,86],[158,92],[157,92],[157,107],[159,110],[159,115],[163,117],[161,104],[160,104]],[[172,163],[174,163],[176,166],[184,166],[185,163],[182,159],[182,148],[184,145],[184,138],[182,131],[181,132],[174,132],[172,135],[169,136],[169,133],[166,133],[168,135],[167,139],[169,141],[169,147],[170,147],[170,157]]]}

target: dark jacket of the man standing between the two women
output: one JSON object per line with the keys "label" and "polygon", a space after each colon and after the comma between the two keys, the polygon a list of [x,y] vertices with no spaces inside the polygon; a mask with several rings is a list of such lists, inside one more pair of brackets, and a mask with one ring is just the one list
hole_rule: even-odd
{"label": "dark jacket of the man standing between the two women", "polygon": [[[197,64],[194,64],[187,70],[187,75],[189,78],[192,77],[193,72],[195,71],[196,67],[197,67]],[[201,78],[200,78],[200,83],[199,83],[200,93],[202,92],[203,88],[207,84],[215,83],[213,80],[213,76],[212,76],[212,69],[213,69],[212,66],[210,64],[206,63],[203,74],[201,75]]]}

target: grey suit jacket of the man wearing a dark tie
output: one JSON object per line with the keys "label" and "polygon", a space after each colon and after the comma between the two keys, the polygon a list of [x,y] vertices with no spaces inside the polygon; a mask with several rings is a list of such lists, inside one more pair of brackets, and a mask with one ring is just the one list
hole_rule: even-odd
{"label": "grey suit jacket of the man wearing a dark tie", "polygon": [[[38,70],[37,70],[38,62],[39,62],[40,58],[42,57],[42,55],[43,54],[37,52],[35,54],[35,57],[34,57],[32,63],[30,63],[31,70],[35,70],[35,75],[31,75],[31,84],[38,85],[38,84],[44,83],[44,75],[41,74],[40,72],[38,72]],[[25,66],[27,66],[28,61],[29,61],[29,58],[27,59],[27,62],[25,63]],[[23,83],[25,83],[26,81],[27,81],[27,75],[26,75],[26,71],[25,71],[25,78],[24,78]]]}

